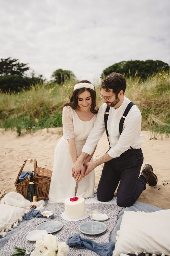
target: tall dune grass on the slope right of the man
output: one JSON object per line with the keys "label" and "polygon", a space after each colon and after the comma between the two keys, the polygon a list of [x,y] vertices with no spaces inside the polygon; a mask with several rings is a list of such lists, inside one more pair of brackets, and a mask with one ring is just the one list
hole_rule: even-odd
{"label": "tall dune grass on the slope right of the man", "polygon": [[127,80],[126,95],[142,113],[142,129],[157,134],[170,133],[170,76],[164,72],[141,82]]}

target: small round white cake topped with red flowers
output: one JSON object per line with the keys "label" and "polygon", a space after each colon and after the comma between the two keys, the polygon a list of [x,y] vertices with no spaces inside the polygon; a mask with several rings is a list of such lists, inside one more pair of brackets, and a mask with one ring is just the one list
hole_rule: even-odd
{"label": "small round white cake topped with red flowers", "polygon": [[76,201],[70,201],[70,198],[66,198],[64,204],[67,218],[77,219],[85,215],[85,200],[83,197],[79,197]]}

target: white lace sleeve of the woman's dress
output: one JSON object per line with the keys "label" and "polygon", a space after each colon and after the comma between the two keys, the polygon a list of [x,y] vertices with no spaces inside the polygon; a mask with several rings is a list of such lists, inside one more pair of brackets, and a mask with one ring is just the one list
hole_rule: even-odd
{"label": "white lace sleeve of the woman's dress", "polygon": [[62,111],[63,136],[66,139],[74,138],[74,125],[72,110],[69,106],[63,107]]}

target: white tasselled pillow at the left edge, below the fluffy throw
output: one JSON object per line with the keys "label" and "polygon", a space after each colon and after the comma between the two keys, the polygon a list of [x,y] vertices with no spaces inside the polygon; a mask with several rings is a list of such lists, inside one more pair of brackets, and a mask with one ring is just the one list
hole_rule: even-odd
{"label": "white tasselled pillow at the left edge, below the fluffy throw", "polygon": [[0,236],[4,237],[6,232],[16,228],[24,212],[25,208],[0,203]]}

